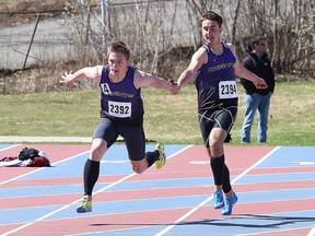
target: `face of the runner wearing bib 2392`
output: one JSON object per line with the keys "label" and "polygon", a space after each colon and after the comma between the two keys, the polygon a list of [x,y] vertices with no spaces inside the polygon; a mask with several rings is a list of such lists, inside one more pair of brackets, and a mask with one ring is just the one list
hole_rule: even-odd
{"label": "face of the runner wearing bib 2392", "polygon": [[128,70],[128,61],[121,52],[110,52],[108,55],[109,74],[114,76],[125,75]]}

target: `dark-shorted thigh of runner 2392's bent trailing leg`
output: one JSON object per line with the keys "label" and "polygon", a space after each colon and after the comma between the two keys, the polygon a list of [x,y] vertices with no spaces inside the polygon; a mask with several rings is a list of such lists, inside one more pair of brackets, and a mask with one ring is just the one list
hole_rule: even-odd
{"label": "dark-shorted thigh of runner 2392's bent trailing leg", "polygon": [[128,150],[129,160],[141,161],[145,155],[145,135],[141,125],[124,125],[119,126],[126,148]]}

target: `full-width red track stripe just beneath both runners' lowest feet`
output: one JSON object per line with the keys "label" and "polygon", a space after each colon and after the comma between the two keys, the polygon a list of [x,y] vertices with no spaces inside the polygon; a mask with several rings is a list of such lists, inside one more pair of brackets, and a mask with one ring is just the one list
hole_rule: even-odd
{"label": "full-width red track stripe just beneath both runners' lowest feet", "polygon": [[[296,200],[292,201],[293,204],[288,206],[288,202],[278,201],[269,203],[269,208],[266,208],[265,203],[244,203],[235,205],[237,214],[228,217],[248,217],[248,214],[253,215],[270,215],[281,212],[294,212],[307,210],[307,204],[314,205],[315,200],[305,200],[303,202]],[[23,228],[20,233],[14,235],[27,235],[27,234],[40,234],[48,232],[49,235],[65,235],[75,233],[93,233],[93,232],[109,232],[116,229],[130,229],[136,227],[145,227],[154,225],[172,224],[176,219],[184,215],[189,209],[170,209],[159,210],[150,212],[130,212],[124,214],[110,214],[110,215],[97,215],[89,216],[89,214],[82,215],[82,217],[75,217],[70,220],[55,220],[55,221],[40,221],[36,222],[28,227]],[[226,216],[225,216],[226,217]],[[201,219],[201,220],[200,220]],[[219,221],[224,219],[220,211],[213,210],[212,206],[200,208],[195,214],[187,217],[183,223],[189,222],[208,222]],[[246,222],[246,221],[245,221]],[[246,225],[246,223],[244,223]],[[56,227],[57,226],[57,227]],[[0,226],[0,232],[8,229],[8,226]],[[188,231],[188,228],[187,228]],[[310,231],[308,231],[310,232]]]}

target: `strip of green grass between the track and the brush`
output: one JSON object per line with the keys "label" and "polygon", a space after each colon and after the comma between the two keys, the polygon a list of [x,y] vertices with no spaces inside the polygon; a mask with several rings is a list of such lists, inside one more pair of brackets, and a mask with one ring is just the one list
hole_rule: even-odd
{"label": "strip of green grass between the track and the brush", "polygon": [[[240,109],[232,142],[240,145],[244,117],[244,88],[238,85]],[[271,99],[268,143],[315,144],[314,82],[278,83]],[[178,95],[143,88],[144,129],[149,140],[176,144],[202,144],[194,85]],[[91,137],[100,120],[98,91],[0,95],[0,135]],[[257,116],[252,144],[257,144]],[[261,144],[259,144],[261,145]]]}

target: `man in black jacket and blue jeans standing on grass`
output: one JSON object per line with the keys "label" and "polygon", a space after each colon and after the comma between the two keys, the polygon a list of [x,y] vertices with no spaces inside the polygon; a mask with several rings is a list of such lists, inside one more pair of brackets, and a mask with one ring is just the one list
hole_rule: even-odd
{"label": "man in black jacket and blue jeans standing on grass", "polygon": [[267,142],[268,115],[270,98],[275,90],[275,73],[266,52],[266,39],[261,36],[255,37],[248,47],[249,55],[243,60],[243,64],[253,73],[262,78],[268,86],[257,88],[253,82],[241,79],[246,91],[245,117],[242,127],[241,142],[250,143],[250,130],[258,109],[258,142]]}

